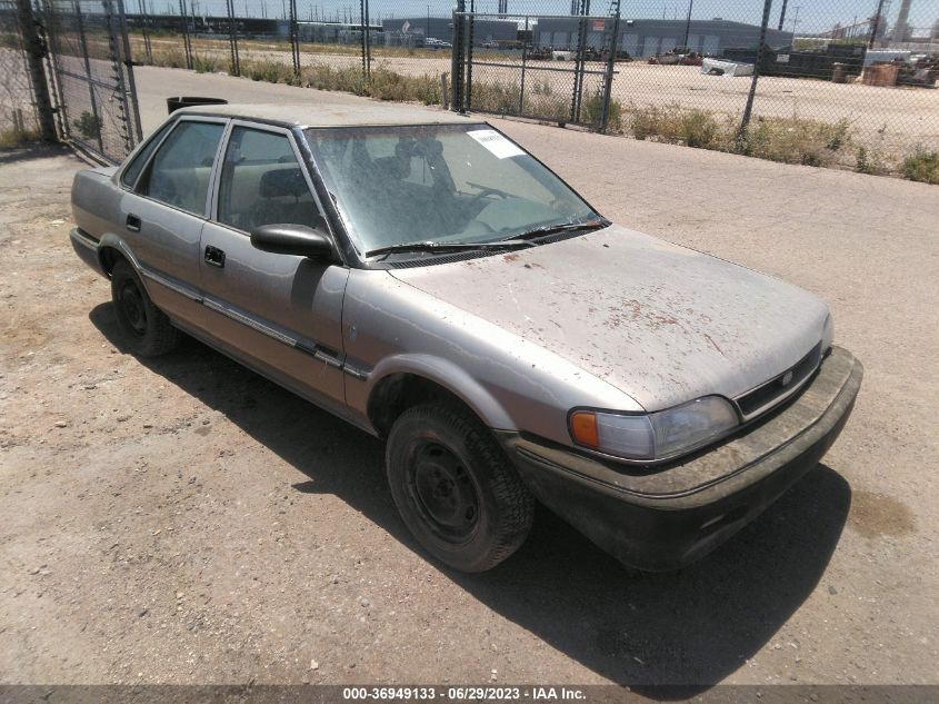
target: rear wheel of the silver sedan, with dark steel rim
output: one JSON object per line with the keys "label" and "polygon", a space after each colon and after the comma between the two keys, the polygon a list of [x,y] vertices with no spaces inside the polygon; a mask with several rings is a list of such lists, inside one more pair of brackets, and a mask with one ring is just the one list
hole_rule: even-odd
{"label": "rear wheel of the silver sedan, with dark steel rim", "polygon": [[118,327],[132,354],[158,357],[179,345],[182,334],[153,305],[137,272],[127,261],[118,261],[111,271],[111,298]]}

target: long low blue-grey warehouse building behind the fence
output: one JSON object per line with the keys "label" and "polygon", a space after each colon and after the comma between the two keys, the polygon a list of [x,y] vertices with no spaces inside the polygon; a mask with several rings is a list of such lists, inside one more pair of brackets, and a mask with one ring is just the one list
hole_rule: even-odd
{"label": "long low blue-grey warehouse building behind the fence", "polygon": [[[541,18],[535,28],[533,41],[538,47],[576,49],[579,22],[576,17]],[[587,46],[601,48],[603,33],[612,29],[612,22],[611,19],[588,19]],[[691,20],[689,23],[686,20],[622,18],[619,28],[619,48],[639,58],[666,53],[682,46],[699,53],[719,56],[725,49],[757,48],[760,43],[758,26],[720,19]],[[775,49],[788,47],[792,43],[792,33],[767,29],[767,43]]]}

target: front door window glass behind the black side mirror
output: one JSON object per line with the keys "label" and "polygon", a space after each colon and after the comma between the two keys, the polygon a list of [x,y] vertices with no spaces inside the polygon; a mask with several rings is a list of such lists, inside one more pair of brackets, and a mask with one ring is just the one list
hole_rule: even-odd
{"label": "front door window glass behind the black side mirror", "polygon": [[231,130],[219,181],[219,222],[248,232],[273,224],[324,227],[286,135]]}

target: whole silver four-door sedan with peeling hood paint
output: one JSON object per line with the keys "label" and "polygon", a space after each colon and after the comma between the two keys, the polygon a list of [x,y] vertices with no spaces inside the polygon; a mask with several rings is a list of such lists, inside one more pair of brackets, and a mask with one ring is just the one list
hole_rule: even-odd
{"label": "whole silver four-door sedan with peeling hood paint", "polygon": [[186,331],[383,438],[404,523],[462,571],[536,499],[686,565],[817,464],[861,383],[811,294],[610,222],[452,112],[187,108],[72,206],[128,348]]}

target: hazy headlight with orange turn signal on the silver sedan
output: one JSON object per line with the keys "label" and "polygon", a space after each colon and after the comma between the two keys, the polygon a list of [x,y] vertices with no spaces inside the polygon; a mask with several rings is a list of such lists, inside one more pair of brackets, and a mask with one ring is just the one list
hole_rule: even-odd
{"label": "hazy headlight with orange turn signal on the silver sedan", "polygon": [[627,459],[668,459],[707,445],[732,430],[733,406],[706,396],[682,406],[646,415],[576,410],[570,434],[583,447]]}

